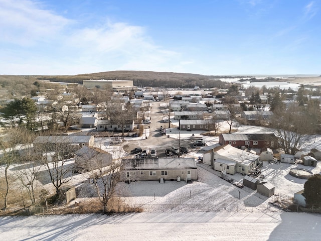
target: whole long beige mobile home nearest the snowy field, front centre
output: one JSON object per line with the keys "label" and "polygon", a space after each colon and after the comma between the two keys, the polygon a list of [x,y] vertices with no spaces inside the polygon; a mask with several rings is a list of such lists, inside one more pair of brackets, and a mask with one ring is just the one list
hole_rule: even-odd
{"label": "whole long beige mobile home nearest the snowy field, front centre", "polygon": [[126,180],[159,181],[197,179],[197,167],[194,158],[150,158],[122,159],[123,177]]}

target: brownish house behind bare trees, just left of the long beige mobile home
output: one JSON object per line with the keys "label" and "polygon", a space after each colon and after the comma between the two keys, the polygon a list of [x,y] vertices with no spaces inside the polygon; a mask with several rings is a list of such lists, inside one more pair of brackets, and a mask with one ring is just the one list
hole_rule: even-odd
{"label": "brownish house behind bare trees, just left of the long beige mobile home", "polygon": [[84,146],[75,152],[75,166],[79,172],[111,165],[112,155],[96,147]]}

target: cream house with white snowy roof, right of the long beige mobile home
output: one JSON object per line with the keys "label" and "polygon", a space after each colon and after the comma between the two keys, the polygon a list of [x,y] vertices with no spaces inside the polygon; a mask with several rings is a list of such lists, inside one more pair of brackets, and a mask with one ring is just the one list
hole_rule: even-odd
{"label": "cream house with white snowy roof, right of the long beige mobile home", "polygon": [[258,155],[232,147],[219,146],[203,154],[203,163],[210,165],[217,171],[226,171],[234,175],[236,172],[249,174],[259,164]]}

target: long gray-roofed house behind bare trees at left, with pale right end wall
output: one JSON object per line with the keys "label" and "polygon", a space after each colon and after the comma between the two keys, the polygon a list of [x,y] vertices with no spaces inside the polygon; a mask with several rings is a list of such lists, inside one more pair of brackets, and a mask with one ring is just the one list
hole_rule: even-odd
{"label": "long gray-roofed house behind bare trees at left, with pale right end wall", "polygon": [[33,142],[34,147],[38,150],[55,151],[60,146],[70,146],[80,149],[84,146],[93,146],[93,136],[39,136]]}

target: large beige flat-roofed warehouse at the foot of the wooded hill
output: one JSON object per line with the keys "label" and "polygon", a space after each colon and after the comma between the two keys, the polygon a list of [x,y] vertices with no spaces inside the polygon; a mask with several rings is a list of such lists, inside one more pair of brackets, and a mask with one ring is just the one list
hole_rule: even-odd
{"label": "large beige flat-roofed warehouse at the foot of the wooded hill", "polygon": [[103,88],[106,85],[112,87],[113,90],[126,90],[134,87],[132,80],[86,79],[82,83],[84,87],[89,89],[93,89],[96,86]]}

